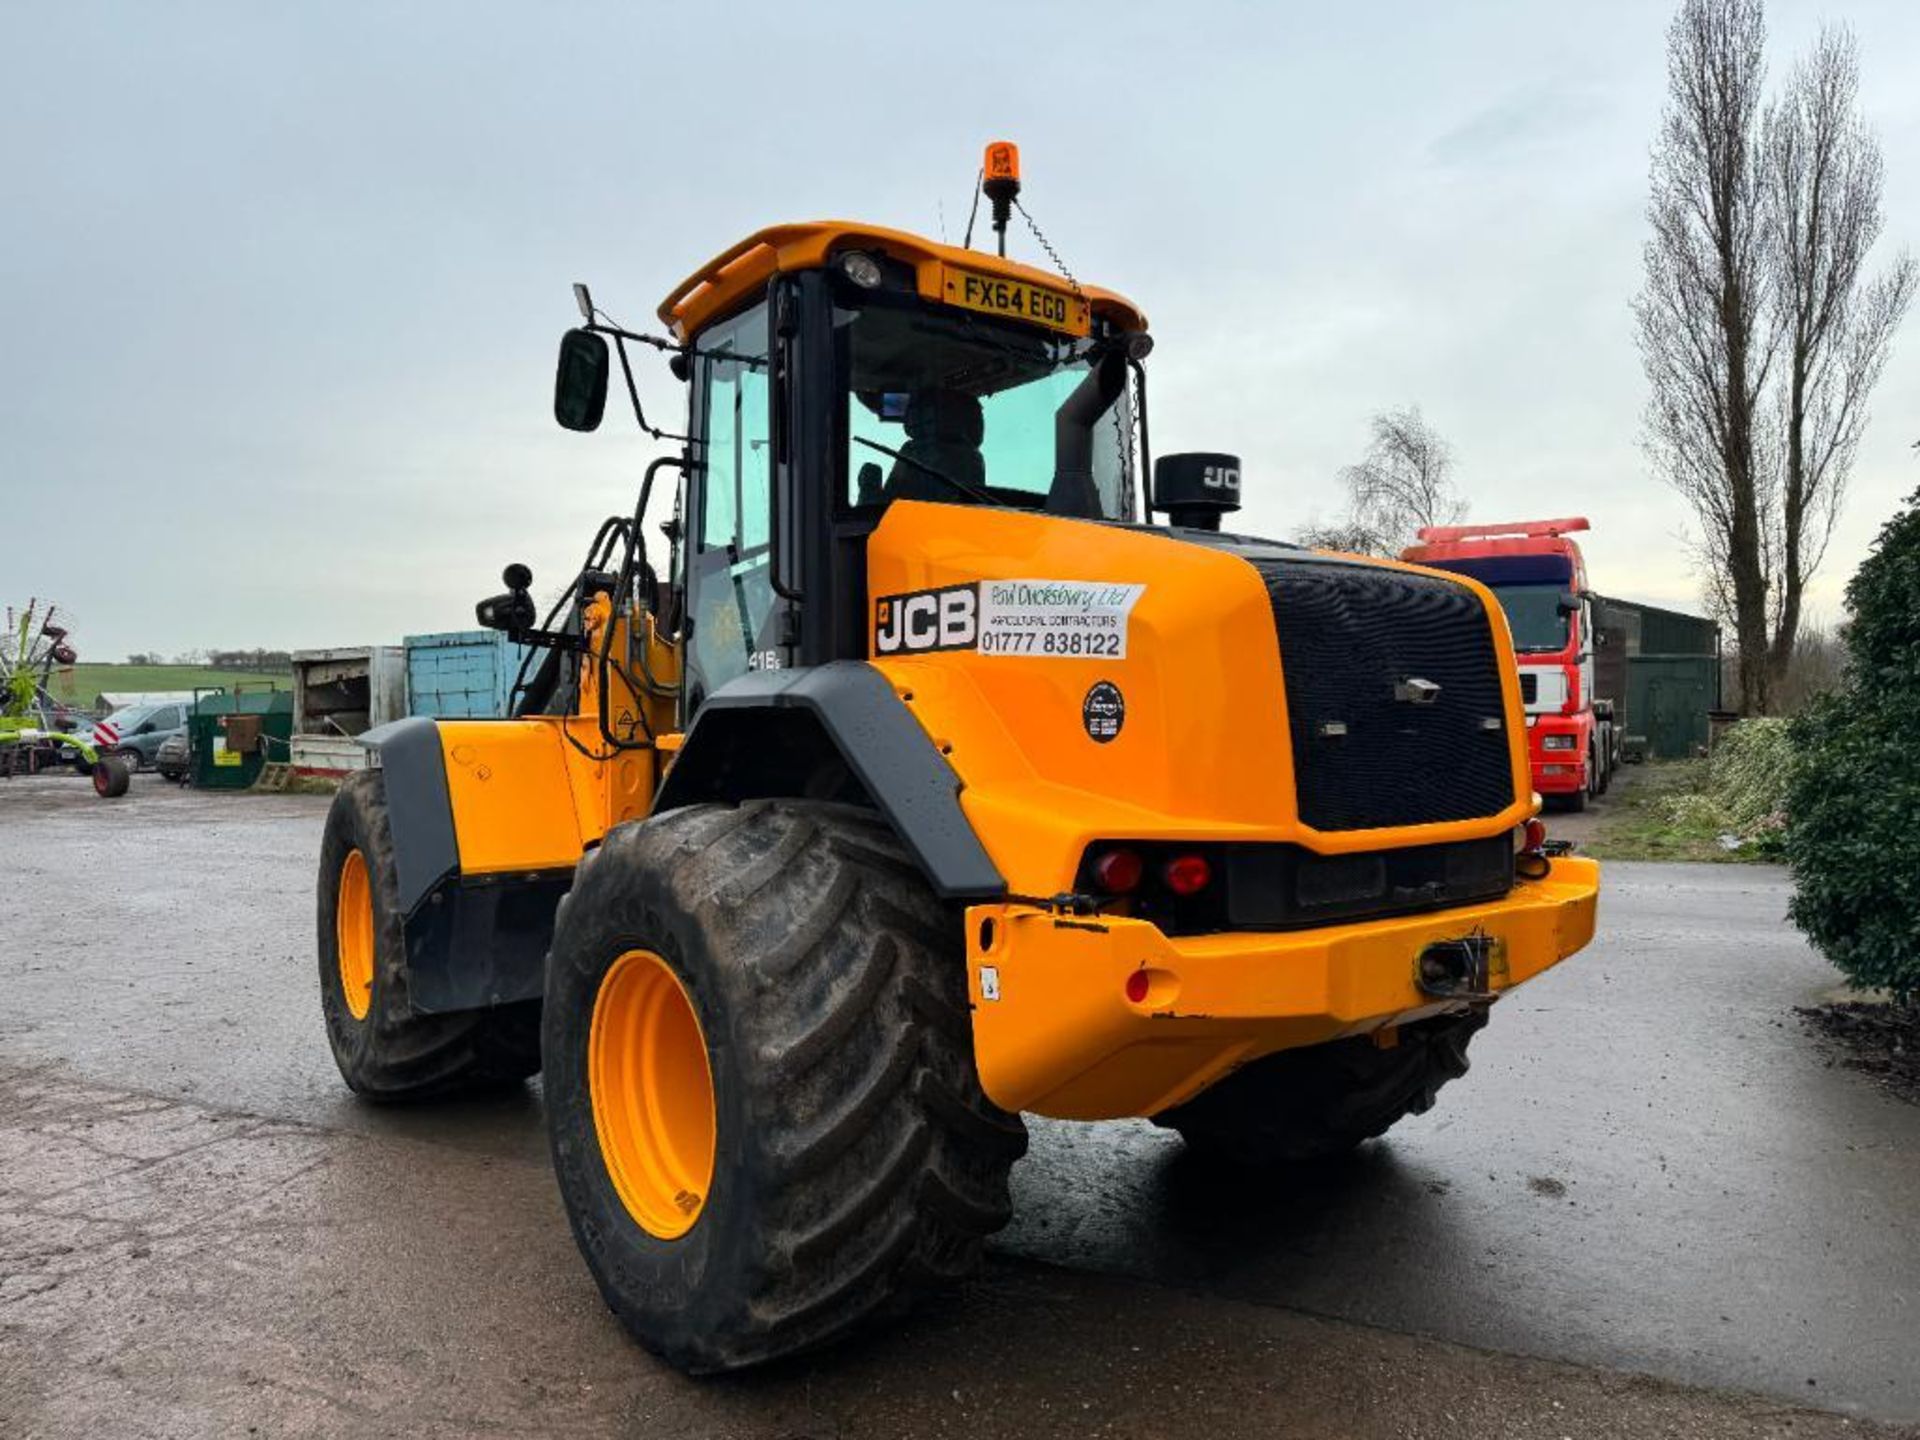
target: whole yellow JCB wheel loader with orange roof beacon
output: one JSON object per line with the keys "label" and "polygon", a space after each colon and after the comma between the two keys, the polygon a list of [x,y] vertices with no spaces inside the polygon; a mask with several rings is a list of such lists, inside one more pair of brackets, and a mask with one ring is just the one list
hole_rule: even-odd
{"label": "whole yellow JCB wheel loader with orange roof beacon", "polygon": [[543,618],[524,566],[478,607],[513,716],[372,732],[326,822],[348,1085],[541,1071],[588,1267],[687,1371],[966,1275],[1021,1112],[1338,1152],[1592,937],[1494,597],[1223,532],[1238,461],[1148,457],[1146,319],[1004,257],[996,150],[1000,253],[780,225],[670,338],[576,286],[559,422],[618,367],[664,436],[651,346],[678,449]]}

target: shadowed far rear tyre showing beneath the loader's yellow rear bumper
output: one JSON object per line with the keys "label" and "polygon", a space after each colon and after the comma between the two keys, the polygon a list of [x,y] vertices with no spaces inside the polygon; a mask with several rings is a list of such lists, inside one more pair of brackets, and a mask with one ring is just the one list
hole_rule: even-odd
{"label": "shadowed far rear tyre showing beneath the loader's yellow rear bumper", "polygon": [[1210,1160],[1246,1169],[1325,1160],[1432,1110],[1467,1073],[1467,1043],[1486,1012],[1402,1025],[1398,1043],[1331,1041],[1242,1066],[1183,1106],[1154,1116]]}

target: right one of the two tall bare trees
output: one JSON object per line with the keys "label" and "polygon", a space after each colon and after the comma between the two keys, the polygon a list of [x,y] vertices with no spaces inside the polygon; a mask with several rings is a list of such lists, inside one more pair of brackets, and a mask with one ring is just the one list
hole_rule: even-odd
{"label": "right one of the two tall bare trees", "polygon": [[[1895,326],[1914,294],[1901,253],[1866,278],[1880,238],[1880,142],[1859,117],[1853,33],[1828,27],[1761,121],[1761,184],[1780,324],[1780,493],[1770,685],[1793,666],[1807,580],[1826,553]],[[1782,697],[1786,699],[1786,697]]]}

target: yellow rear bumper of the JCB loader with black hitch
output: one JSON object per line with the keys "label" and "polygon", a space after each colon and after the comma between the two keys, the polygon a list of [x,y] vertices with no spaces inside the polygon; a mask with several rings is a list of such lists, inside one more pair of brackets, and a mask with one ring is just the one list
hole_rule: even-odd
{"label": "yellow rear bumper of the JCB loader with black hitch", "polygon": [[1599,866],[1565,856],[1488,904],[1183,939],[1140,920],[970,906],[981,1085],[1006,1110],[1152,1116],[1261,1054],[1457,1010],[1415,983],[1436,941],[1484,935],[1494,993],[1532,979],[1594,937],[1597,893]]}

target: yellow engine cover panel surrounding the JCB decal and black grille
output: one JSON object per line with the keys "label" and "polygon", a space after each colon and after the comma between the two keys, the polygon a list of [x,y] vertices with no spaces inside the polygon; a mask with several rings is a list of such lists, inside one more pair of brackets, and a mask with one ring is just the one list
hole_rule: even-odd
{"label": "yellow engine cover panel surrounding the JCB decal and black grille", "polygon": [[[1260,574],[1225,551],[922,501],[895,501],[868,541],[876,603],[993,578],[1146,586],[1125,659],[872,657],[960,774],[960,806],[1018,895],[1069,889],[1087,843],[1102,837],[1294,841],[1334,854],[1496,835],[1536,808],[1519,678],[1503,664],[1513,804],[1438,826],[1325,833],[1302,824],[1273,607]],[[1475,591],[1490,607],[1496,653],[1507,655],[1500,605]],[[1127,703],[1119,735],[1104,745],[1081,724],[1100,680]]]}

